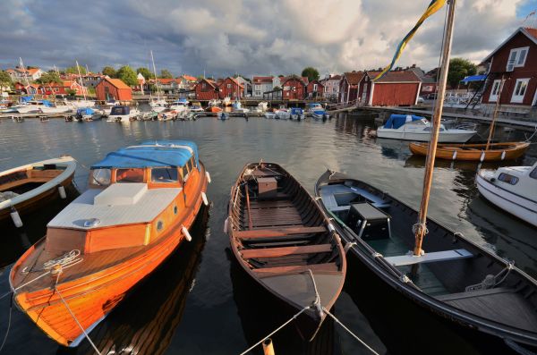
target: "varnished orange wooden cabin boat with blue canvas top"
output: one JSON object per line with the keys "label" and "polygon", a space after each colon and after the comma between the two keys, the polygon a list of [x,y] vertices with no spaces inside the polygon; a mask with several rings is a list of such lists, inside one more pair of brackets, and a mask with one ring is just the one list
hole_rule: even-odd
{"label": "varnished orange wooden cabin boat with blue canvas top", "polygon": [[185,239],[209,173],[187,140],[119,149],[92,165],[90,189],[14,264],[14,300],[49,337],[75,345]]}

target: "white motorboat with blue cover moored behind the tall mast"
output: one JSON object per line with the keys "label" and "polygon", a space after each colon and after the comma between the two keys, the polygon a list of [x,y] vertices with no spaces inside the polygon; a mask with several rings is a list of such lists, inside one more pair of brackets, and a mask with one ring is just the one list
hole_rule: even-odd
{"label": "white motorboat with blue cover moored behind the tall mast", "polygon": [[[377,129],[377,137],[415,141],[430,140],[431,125],[425,117],[412,114],[392,114],[383,126]],[[447,129],[440,124],[439,143],[465,143],[477,131]]]}

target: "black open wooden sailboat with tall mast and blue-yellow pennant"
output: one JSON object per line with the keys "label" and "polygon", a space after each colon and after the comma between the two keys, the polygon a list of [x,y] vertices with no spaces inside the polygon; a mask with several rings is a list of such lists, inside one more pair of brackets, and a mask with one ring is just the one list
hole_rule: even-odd
{"label": "black open wooden sailboat with tall mast and blue-yellow pennant", "polygon": [[[428,15],[444,3],[431,2]],[[438,97],[446,91],[455,4],[451,0],[447,10]],[[533,353],[537,350],[537,282],[514,262],[427,217],[442,108],[439,100],[419,211],[368,182],[333,171],[320,177],[316,196],[337,222],[336,230],[349,249],[347,258],[358,260],[361,282],[371,280],[399,305],[405,302],[422,309],[486,353]]]}

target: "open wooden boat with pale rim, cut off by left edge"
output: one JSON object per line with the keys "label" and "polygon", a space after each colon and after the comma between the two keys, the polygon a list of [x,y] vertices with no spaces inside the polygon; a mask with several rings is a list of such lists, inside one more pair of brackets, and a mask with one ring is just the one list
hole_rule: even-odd
{"label": "open wooden boat with pale rim, cut off by left edge", "polygon": [[21,226],[21,215],[45,207],[52,196],[65,198],[75,169],[76,160],[61,156],[0,173],[0,223],[11,218]]}

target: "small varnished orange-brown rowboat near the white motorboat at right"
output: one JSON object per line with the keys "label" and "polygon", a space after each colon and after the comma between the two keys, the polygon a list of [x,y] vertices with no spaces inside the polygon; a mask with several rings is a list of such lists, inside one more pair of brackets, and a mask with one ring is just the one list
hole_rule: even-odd
{"label": "small varnished orange-brown rowboat near the white motorboat at right", "polygon": [[[410,143],[413,154],[427,155],[428,143]],[[486,144],[439,144],[436,157],[447,160],[501,161],[515,160],[523,156],[530,147],[526,142],[490,143]]]}

